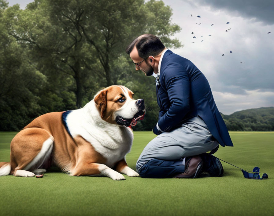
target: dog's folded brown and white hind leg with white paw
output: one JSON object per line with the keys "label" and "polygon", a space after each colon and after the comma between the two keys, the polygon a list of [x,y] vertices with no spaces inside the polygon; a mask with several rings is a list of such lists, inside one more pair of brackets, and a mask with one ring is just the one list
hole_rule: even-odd
{"label": "dog's folded brown and white hind leg with white paw", "polygon": [[[54,138],[41,128],[20,131],[11,142],[11,165],[14,176],[33,177],[47,160],[53,148]],[[30,172],[29,172],[30,171]]]}

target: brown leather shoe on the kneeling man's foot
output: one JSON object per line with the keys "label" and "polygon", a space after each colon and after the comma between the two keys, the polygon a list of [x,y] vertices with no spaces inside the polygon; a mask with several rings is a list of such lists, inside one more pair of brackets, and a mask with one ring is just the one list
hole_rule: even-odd
{"label": "brown leather shoe on the kneeling man's foot", "polygon": [[201,172],[203,167],[203,161],[199,156],[191,157],[185,164],[185,172],[174,176],[173,178],[196,178]]}

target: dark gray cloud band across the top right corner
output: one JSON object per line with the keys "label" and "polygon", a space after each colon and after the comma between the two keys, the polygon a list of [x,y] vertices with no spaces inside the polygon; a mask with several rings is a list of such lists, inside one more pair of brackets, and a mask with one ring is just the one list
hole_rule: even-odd
{"label": "dark gray cloud band across the top right corner", "polygon": [[226,10],[231,16],[255,18],[254,21],[262,21],[267,25],[274,23],[273,0],[196,0],[195,3],[187,0],[190,4],[210,6],[215,10]]}

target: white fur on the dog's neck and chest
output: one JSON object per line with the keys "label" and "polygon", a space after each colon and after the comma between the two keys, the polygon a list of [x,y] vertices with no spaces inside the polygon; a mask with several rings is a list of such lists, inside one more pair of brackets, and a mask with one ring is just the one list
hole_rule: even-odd
{"label": "white fur on the dog's neck and chest", "polygon": [[131,149],[131,129],[102,120],[94,100],[68,114],[66,123],[72,137],[80,135],[91,143],[94,149],[106,158],[108,167],[122,160]]}

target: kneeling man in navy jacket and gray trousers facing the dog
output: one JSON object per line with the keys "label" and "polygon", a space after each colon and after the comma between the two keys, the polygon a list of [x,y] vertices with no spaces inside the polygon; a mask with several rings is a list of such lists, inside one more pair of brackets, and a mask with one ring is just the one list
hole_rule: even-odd
{"label": "kneeling man in navy jacket and gray trousers facing the dog", "polygon": [[[233,146],[206,77],[189,60],[174,54],[154,35],[136,38],[126,49],[146,76],[156,78],[158,135],[141,153],[136,170],[144,178],[196,178],[201,172],[221,176],[211,154],[219,144]],[[205,153],[211,151],[211,154]]]}

